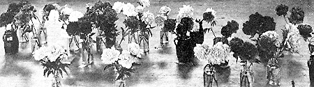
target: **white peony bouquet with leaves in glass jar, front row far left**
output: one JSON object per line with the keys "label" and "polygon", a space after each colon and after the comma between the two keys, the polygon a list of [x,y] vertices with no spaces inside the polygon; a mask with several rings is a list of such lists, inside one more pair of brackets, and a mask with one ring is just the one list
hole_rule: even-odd
{"label": "white peony bouquet with leaves in glass jar, front row far left", "polygon": [[40,47],[38,50],[33,52],[33,58],[36,61],[39,61],[44,67],[44,76],[49,77],[50,74],[53,75],[54,79],[52,80],[53,87],[60,87],[60,75],[63,77],[63,72],[66,71],[66,68],[70,64],[63,63],[63,58],[68,57],[66,54],[66,49],[59,45],[50,45],[48,47]]}

